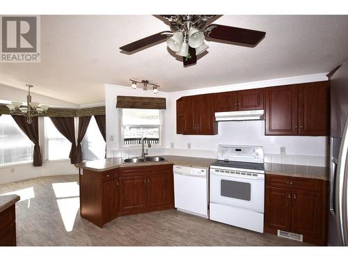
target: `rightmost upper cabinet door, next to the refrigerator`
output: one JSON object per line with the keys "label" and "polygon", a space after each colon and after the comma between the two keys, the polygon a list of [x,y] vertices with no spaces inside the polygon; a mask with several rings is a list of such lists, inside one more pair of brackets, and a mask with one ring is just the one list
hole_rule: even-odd
{"label": "rightmost upper cabinet door, next to the refrigerator", "polygon": [[299,84],[299,135],[329,136],[329,81]]}

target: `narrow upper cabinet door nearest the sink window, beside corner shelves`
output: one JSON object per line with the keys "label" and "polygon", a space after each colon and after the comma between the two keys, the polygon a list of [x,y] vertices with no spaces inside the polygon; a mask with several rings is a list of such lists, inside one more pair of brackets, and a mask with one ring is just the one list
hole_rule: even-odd
{"label": "narrow upper cabinet door nearest the sink window, beside corner shelves", "polygon": [[184,102],[184,134],[198,134],[197,105],[198,96],[182,97]]}

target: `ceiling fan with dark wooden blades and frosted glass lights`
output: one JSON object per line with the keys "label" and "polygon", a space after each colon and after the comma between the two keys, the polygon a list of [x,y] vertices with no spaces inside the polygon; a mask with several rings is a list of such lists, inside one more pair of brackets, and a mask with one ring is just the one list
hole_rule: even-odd
{"label": "ceiling fan with dark wooden blades and frosted glass lights", "polygon": [[255,47],[266,35],[262,31],[209,24],[216,15],[160,15],[160,17],[170,22],[171,31],[155,33],[124,45],[120,49],[132,53],[167,40],[169,49],[182,56],[185,67],[196,64],[197,56],[208,48],[204,40]]}

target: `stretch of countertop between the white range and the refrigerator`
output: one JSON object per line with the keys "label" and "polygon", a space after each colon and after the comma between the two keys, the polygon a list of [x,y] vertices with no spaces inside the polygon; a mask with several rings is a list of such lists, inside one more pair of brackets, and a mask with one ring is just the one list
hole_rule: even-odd
{"label": "stretch of countertop between the white range and the refrigerator", "polygon": [[265,163],[264,171],[266,174],[329,180],[327,167]]}

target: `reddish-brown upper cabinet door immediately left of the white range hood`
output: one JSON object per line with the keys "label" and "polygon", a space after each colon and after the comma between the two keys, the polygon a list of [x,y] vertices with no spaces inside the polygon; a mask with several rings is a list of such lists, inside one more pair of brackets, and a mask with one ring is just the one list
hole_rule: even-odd
{"label": "reddish-brown upper cabinet door immediately left of the white range hood", "polygon": [[197,128],[200,135],[217,134],[217,122],[214,115],[214,95],[198,95]]}

